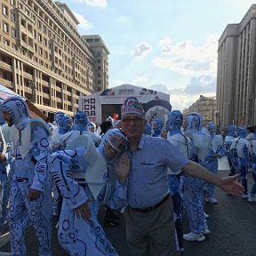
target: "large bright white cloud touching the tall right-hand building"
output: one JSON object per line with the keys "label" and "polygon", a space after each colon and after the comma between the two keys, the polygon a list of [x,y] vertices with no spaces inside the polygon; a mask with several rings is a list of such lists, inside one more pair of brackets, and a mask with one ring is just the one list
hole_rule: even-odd
{"label": "large bright white cloud touching the tall right-hand building", "polygon": [[164,37],[158,43],[161,56],[152,60],[158,68],[169,68],[185,76],[216,76],[217,49],[220,36],[208,36],[204,44],[192,45],[189,41],[172,44],[170,37]]}

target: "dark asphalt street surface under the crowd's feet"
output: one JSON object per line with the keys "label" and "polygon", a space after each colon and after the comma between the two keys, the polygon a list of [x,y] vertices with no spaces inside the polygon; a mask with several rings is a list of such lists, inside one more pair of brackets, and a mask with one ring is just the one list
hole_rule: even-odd
{"label": "dark asphalt street surface under the crowd's feet", "polygon": [[[225,166],[221,166],[224,169]],[[228,170],[221,170],[220,176],[227,176]],[[249,173],[250,186],[252,188],[252,172]],[[185,256],[255,256],[256,241],[256,204],[250,204],[241,197],[227,196],[226,193],[216,190],[218,204],[204,204],[204,212],[210,215],[208,225],[211,234],[206,236],[204,242],[185,241]],[[120,256],[130,256],[130,249],[125,242],[123,215],[116,212],[120,217],[120,227],[105,228],[108,239],[112,242]],[[100,211],[99,219],[102,223],[104,217],[103,209]],[[184,217],[184,233],[188,231],[188,220]],[[56,222],[56,220],[54,221]],[[52,239],[53,256],[68,255],[60,248],[56,237],[56,228],[53,228]],[[34,230],[28,228],[26,234],[28,256],[37,254],[37,242]],[[10,243],[2,246],[0,251],[8,252]],[[9,251],[10,252],[10,251]],[[0,253],[1,256],[1,253]],[[91,255],[90,255],[91,256]],[[93,255],[94,256],[94,255]]]}

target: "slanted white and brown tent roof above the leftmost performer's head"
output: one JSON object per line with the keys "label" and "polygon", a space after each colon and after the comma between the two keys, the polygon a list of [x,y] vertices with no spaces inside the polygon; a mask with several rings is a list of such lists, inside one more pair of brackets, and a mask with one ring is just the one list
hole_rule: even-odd
{"label": "slanted white and brown tent roof above the leftmost performer's head", "polygon": [[[4,85],[0,84],[0,99],[5,100],[11,96],[19,96],[20,98],[22,98],[18,93],[13,92]],[[44,119],[44,121],[48,119],[48,116],[45,116],[44,113],[40,109],[36,108],[36,106],[32,102],[27,99],[24,100],[26,100],[26,103],[28,104],[30,117],[41,117],[42,119]]]}

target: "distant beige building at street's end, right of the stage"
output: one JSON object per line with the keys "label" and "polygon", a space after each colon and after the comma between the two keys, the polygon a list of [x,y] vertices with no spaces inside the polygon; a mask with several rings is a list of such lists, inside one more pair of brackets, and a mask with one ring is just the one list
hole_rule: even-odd
{"label": "distant beige building at street's end, right of the stage", "polygon": [[216,97],[205,97],[200,95],[189,108],[183,110],[184,119],[188,116],[188,113],[198,112],[203,116],[203,125],[205,126],[209,122],[214,122],[220,127],[219,112],[216,110]]}

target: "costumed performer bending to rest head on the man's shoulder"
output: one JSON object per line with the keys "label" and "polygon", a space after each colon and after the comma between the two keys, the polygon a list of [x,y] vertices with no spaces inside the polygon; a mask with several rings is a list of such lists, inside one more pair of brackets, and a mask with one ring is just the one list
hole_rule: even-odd
{"label": "costumed performer bending to rest head on the man's shoulder", "polygon": [[[59,241],[69,255],[117,255],[97,213],[102,203],[111,204],[112,208],[124,207],[126,203],[127,191],[123,186],[116,186],[116,196],[108,193],[108,161],[122,153],[126,144],[124,132],[114,128],[105,134],[99,148],[95,148],[90,136],[81,135],[68,145],[73,149],[49,156],[53,179],[63,196]],[[118,168],[124,170],[124,166]]]}

